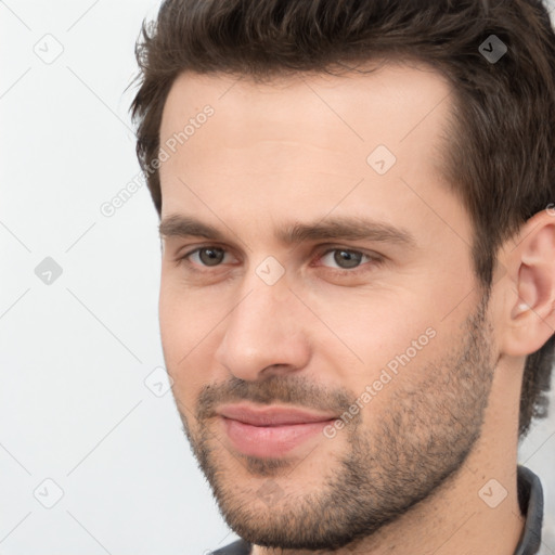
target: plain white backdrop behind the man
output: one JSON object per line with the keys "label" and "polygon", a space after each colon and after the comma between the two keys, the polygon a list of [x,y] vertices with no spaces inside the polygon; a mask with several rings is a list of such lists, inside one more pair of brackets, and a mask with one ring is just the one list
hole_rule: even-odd
{"label": "plain white backdrop behind the man", "polygon": [[[164,360],[149,192],[100,210],[139,173],[124,91],[157,7],[0,1],[1,555],[195,555],[235,538],[171,393],[153,385]],[[35,273],[47,257],[62,270],[51,284]],[[519,460],[542,477],[555,553],[554,416]]]}

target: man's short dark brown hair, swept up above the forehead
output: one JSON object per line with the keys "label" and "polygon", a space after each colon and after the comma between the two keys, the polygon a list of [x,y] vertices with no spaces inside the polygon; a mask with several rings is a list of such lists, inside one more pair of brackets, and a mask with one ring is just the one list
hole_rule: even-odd
{"label": "man's short dark brown hair, swept up above the forehead", "polygon": [[[507,49],[496,61],[485,56],[491,40]],[[156,21],[143,22],[135,55],[137,154],[158,215],[152,163],[164,104],[182,72],[338,75],[378,57],[420,60],[452,86],[455,132],[444,172],[473,222],[485,288],[502,243],[553,206],[555,35],[540,0],[166,0]],[[532,417],[546,414],[554,350],[552,336],[526,360],[521,437]]]}

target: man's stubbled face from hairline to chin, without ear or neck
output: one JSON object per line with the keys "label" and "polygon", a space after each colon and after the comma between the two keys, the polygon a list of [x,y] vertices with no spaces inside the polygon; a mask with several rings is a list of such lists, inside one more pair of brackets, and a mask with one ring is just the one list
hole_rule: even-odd
{"label": "man's stubbled face from hairline to chin, without ear or neck", "polygon": [[270,85],[189,74],[169,93],[164,353],[193,451],[253,543],[367,535],[479,436],[493,339],[440,172],[451,105],[438,74],[401,65]]}

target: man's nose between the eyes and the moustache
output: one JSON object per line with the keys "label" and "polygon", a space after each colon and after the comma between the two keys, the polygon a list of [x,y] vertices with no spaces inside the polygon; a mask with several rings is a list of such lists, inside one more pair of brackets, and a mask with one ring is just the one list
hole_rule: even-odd
{"label": "man's nose between the eyes and the moustache", "polygon": [[242,300],[224,320],[227,327],[216,351],[217,361],[245,380],[305,367],[310,360],[308,328],[304,324],[308,320],[307,308],[283,278],[267,285],[254,275],[243,285]]}

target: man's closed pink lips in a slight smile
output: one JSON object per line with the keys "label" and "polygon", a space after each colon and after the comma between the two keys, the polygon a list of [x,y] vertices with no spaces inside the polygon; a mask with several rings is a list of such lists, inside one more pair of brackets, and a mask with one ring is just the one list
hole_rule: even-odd
{"label": "man's closed pink lips in a slight smile", "polygon": [[287,406],[224,405],[218,411],[227,438],[241,453],[279,457],[313,438],[337,416]]}

